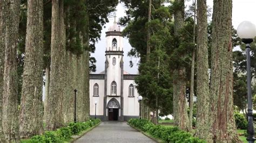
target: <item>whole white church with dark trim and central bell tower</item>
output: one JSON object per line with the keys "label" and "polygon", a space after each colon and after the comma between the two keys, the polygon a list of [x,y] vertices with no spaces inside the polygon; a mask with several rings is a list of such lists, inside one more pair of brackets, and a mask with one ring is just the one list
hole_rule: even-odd
{"label": "whole white church with dark trim and central bell tower", "polygon": [[[114,21],[106,32],[105,70],[90,74],[90,116],[101,120],[139,117],[138,92],[134,78],[124,71],[123,37]],[[97,104],[96,104],[97,103]]]}

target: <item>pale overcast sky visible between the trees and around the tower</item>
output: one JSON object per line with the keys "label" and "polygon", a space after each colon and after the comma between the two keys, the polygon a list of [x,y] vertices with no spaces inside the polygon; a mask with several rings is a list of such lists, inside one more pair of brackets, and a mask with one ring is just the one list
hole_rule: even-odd
{"label": "pale overcast sky visible between the trees and around the tower", "polygon": [[[185,0],[185,5],[190,5],[193,1],[192,0]],[[207,0],[207,5],[210,6],[210,8],[213,8],[213,0]],[[120,17],[125,16],[125,7],[123,3],[119,3],[116,8],[116,16],[117,19]],[[211,20],[211,18],[210,18]],[[256,0],[233,0],[233,9],[232,9],[232,25],[236,29],[238,25],[243,22],[244,20],[251,21],[252,23],[256,24]],[[96,62],[96,73],[100,73],[104,70],[105,66],[105,58],[103,56],[105,55],[105,44],[106,44],[106,34],[105,32],[111,26],[114,22],[114,18],[109,18],[109,23],[106,23],[102,30],[102,35],[100,37],[100,40],[96,44],[96,50],[95,53],[91,53],[92,56],[94,56],[97,60]],[[121,27],[121,30],[123,30],[124,27]],[[137,74],[138,73],[138,63],[139,59],[134,57],[127,56],[127,53],[131,49],[131,45],[129,44],[129,39],[124,38],[123,39],[123,45],[124,45],[124,70],[127,71],[130,74]],[[129,61],[133,61],[133,67],[129,67]]]}

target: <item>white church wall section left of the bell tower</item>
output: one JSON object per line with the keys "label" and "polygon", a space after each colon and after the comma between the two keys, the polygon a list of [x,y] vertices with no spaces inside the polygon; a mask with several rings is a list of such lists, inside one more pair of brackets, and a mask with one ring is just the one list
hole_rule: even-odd
{"label": "white church wall section left of the bell tower", "polygon": [[[93,85],[99,85],[99,97],[93,96]],[[97,101],[96,115],[103,115],[104,105],[104,80],[90,79],[90,115],[95,115],[95,101]]]}

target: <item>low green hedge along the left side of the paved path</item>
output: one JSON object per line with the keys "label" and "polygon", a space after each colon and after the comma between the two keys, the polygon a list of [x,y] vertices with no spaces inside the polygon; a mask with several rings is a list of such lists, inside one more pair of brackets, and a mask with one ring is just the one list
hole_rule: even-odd
{"label": "low green hedge along the left side of the paved path", "polygon": [[22,142],[64,142],[65,140],[71,139],[71,135],[78,134],[97,125],[98,123],[100,123],[100,119],[79,123],[69,123],[66,127],[58,128],[56,131],[46,131],[42,135],[35,135],[28,140],[23,140]]}

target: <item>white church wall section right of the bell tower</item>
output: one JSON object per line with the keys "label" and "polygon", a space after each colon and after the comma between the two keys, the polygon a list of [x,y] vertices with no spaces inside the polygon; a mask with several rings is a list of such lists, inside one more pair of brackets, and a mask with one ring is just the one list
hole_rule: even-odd
{"label": "white church wall section right of the bell tower", "polygon": [[[129,97],[129,85],[134,85],[134,97]],[[139,116],[138,92],[134,80],[124,80],[124,116]]]}

